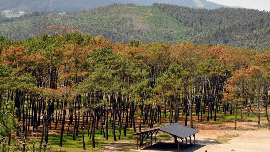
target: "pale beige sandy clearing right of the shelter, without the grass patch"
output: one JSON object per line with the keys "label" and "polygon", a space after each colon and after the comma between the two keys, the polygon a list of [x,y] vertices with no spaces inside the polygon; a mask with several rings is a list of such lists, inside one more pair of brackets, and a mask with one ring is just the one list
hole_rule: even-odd
{"label": "pale beige sandy clearing right of the shelter, without the grass patch", "polygon": [[[209,131],[209,130],[208,130]],[[213,137],[206,135],[204,131],[197,134],[196,145],[184,150],[183,152],[270,152],[270,130],[260,129],[255,131],[220,131],[223,134],[238,134],[238,137],[232,138],[230,143],[217,144]],[[177,151],[169,149],[160,150],[138,150],[139,152],[162,152]]]}

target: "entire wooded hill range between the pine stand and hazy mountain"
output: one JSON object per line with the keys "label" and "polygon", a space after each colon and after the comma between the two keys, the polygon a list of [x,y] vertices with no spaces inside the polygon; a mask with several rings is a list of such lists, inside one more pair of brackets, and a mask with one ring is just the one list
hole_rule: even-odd
{"label": "entire wooded hill range between the pine stand and hazy mountain", "polygon": [[51,25],[68,25],[112,42],[192,41],[265,49],[270,47],[269,16],[270,12],[242,8],[114,4],[77,13],[36,11],[18,18],[0,17],[0,35],[13,40],[27,39],[41,35]]}

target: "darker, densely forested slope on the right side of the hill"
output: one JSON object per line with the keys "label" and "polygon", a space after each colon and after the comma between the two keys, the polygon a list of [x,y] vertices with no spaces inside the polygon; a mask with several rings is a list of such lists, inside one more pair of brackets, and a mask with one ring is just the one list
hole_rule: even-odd
{"label": "darker, densely forested slope on the right side of the hill", "polygon": [[195,29],[191,41],[199,44],[228,44],[263,49],[270,46],[270,12],[251,9],[192,9],[157,4],[184,25]]}

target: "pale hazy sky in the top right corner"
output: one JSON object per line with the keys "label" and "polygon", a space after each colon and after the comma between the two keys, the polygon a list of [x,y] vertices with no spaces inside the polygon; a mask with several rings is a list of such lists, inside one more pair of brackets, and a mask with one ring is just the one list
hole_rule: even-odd
{"label": "pale hazy sky in the top right corner", "polygon": [[270,11],[270,0],[208,0],[227,6],[241,6],[244,8]]}

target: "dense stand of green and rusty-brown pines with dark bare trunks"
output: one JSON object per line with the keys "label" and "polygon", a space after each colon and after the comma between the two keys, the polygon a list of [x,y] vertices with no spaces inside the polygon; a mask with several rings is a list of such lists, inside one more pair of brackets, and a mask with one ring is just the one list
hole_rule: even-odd
{"label": "dense stand of green and rusty-brown pines with dark bare trunks", "polygon": [[[112,43],[69,31],[0,38],[0,144],[48,150],[49,132],[108,140],[185,119],[185,125],[268,110],[270,51],[179,43]],[[204,119],[204,117],[206,119]],[[266,115],[268,123],[270,120]],[[235,119],[235,128],[237,119]],[[10,122],[10,123],[7,123]],[[37,131],[38,147],[29,146]]]}

